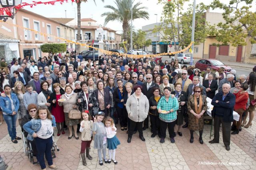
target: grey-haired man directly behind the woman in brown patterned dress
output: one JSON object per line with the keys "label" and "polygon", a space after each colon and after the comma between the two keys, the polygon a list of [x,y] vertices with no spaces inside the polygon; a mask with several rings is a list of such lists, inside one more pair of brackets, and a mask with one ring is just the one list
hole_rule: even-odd
{"label": "grey-haired man directly behind the woman in brown patterned dress", "polygon": [[[202,86],[202,85],[200,84],[200,77],[194,76],[194,77],[193,77],[193,82],[192,82],[192,84],[188,85],[188,89],[187,89],[188,98],[189,98],[190,95],[194,94],[194,91],[193,91],[193,90],[194,90],[194,87],[196,87],[196,86],[202,87],[202,88],[203,88],[202,95],[206,96],[206,89],[205,89],[204,86]],[[186,127],[188,127],[188,114],[186,114],[186,115],[184,116],[184,121],[186,122],[186,124],[183,125],[182,127],[183,127],[183,128],[186,128]]]}

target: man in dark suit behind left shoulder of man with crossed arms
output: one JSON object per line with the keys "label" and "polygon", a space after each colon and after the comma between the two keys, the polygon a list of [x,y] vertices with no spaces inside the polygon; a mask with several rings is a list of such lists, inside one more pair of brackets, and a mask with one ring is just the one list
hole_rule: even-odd
{"label": "man in dark suit behind left shoulder of man with crossed arms", "polygon": [[213,79],[212,74],[208,74],[208,80],[204,80],[203,86],[206,88],[206,96],[213,99],[215,91],[218,89],[218,82]]}

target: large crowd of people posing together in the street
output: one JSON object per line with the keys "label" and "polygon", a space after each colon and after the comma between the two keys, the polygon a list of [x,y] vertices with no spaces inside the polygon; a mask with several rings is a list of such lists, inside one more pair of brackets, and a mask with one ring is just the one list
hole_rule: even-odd
{"label": "large crowd of people posing together in the street", "polygon": [[[230,150],[230,134],[252,126],[255,72],[236,77],[235,70],[226,74],[223,67],[215,72],[210,66],[206,70],[181,67],[177,59],[170,63],[155,60],[102,55],[97,64],[84,61],[80,53],[49,54],[38,61],[33,56],[14,58],[12,66],[0,74],[0,125],[5,121],[11,141],[18,143],[18,119],[42,169],[46,167],[44,153],[48,166],[56,168],[49,153],[52,127],[57,128],[57,136],[68,129],[68,139],[74,136],[78,140],[81,132],[80,153],[86,166],[85,157],[92,159],[89,151],[93,137],[100,165],[103,160],[117,164],[118,122],[120,130],[128,134],[128,143],[137,131],[145,141],[143,131],[150,125],[151,137],[158,135],[160,143],[165,142],[167,128],[171,143],[175,143],[176,135],[182,137],[182,128],[188,127],[190,143],[194,142],[194,131],[199,131],[199,143],[203,144],[204,115],[209,110],[206,98],[214,106],[214,139],[209,143],[219,143],[222,124],[223,142]],[[239,121],[234,121],[233,110],[240,115]],[[75,117],[76,113],[80,117]]]}

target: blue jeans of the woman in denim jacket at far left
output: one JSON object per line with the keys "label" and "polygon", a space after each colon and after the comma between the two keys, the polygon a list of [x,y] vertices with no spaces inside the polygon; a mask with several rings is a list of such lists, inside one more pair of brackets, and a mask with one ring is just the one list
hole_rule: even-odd
{"label": "blue jeans of the woman in denim jacket at far left", "polygon": [[16,138],[16,120],[17,120],[17,114],[4,115],[4,121],[7,124],[8,133],[12,141],[15,140]]}

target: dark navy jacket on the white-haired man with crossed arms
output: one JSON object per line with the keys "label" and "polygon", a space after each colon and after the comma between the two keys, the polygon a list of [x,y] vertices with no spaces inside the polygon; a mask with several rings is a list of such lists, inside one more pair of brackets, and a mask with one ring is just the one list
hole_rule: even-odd
{"label": "dark navy jacket on the white-haired man with crossed arms", "polygon": [[[233,110],[236,102],[236,96],[232,93],[228,93],[226,98],[222,100],[222,92],[218,92],[214,98],[212,99],[212,105],[214,106],[212,109],[212,117],[216,115],[224,115],[224,122],[232,122],[233,118]],[[216,100],[219,102],[216,103]]]}

